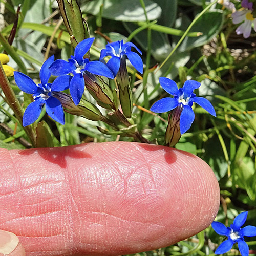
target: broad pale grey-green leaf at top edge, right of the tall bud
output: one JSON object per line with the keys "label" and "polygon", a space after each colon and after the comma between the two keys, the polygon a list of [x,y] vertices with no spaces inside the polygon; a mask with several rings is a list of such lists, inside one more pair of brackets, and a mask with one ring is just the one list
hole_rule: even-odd
{"label": "broad pale grey-green leaf at top edge, right of the tall bud", "polygon": [[[151,0],[144,0],[148,20],[154,20],[160,17],[161,7]],[[105,0],[88,1],[81,9],[82,12],[97,15],[100,6],[103,4],[102,17],[123,22],[146,21],[144,10],[137,0]]]}

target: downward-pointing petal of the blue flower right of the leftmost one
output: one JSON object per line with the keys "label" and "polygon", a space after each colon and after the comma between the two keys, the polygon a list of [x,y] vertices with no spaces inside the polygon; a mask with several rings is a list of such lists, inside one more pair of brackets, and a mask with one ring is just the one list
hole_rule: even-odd
{"label": "downward-pointing petal of the blue flower right of the leftmost one", "polygon": [[84,79],[81,73],[75,74],[71,79],[69,91],[75,105],[78,105],[84,91]]}

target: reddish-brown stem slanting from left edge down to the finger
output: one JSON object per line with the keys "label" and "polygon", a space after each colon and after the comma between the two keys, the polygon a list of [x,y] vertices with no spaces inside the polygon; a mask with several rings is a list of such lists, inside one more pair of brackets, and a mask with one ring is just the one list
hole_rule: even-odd
{"label": "reddish-brown stem slanting from left edge down to the finger", "polygon": [[[14,91],[11,88],[8,78],[5,75],[4,69],[2,64],[0,63],[0,86],[3,90],[3,93],[6,97],[6,102],[9,104],[10,108],[13,110],[16,118],[18,119],[19,123],[22,125],[22,118],[23,118],[23,109],[22,106],[19,104]],[[32,127],[26,126],[23,127],[26,134],[30,138],[31,144],[35,147],[36,141],[36,134]]]}

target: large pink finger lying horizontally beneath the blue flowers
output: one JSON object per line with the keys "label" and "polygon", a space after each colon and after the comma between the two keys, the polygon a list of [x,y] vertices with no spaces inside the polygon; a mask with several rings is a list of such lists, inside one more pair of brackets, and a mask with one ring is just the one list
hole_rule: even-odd
{"label": "large pink finger lying horizontally beneath the blue flowers", "polygon": [[1,150],[0,228],[27,255],[123,255],[193,236],[219,185],[187,152],[130,142]]}

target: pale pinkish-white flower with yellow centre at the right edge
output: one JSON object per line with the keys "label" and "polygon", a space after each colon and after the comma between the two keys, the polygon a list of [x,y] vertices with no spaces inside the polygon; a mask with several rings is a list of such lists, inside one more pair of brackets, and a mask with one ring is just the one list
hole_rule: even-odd
{"label": "pale pinkish-white flower with yellow centre at the right edge", "polygon": [[243,34],[244,38],[248,38],[251,34],[251,25],[254,25],[254,31],[256,31],[256,19],[253,17],[252,11],[249,9],[244,9],[242,11],[237,11],[232,14],[233,24],[242,23],[237,29],[236,33],[238,35]]}

